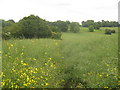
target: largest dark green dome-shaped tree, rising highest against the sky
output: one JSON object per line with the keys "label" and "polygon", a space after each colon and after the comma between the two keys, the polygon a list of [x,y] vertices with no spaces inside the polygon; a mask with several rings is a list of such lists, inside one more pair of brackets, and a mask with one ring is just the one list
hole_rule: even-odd
{"label": "largest dark green dome-shaped tree, rising highest against the sky", "polygon": [[20,32],[25,38],[46,38],[52,35],[49,25],[38,16],[30,15],[19,21]]}

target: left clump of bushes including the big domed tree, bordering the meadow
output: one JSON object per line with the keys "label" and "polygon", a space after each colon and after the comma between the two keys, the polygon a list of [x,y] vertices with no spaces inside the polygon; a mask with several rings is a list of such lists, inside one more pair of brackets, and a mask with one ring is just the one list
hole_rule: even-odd
{"label": "left clump of bushes including the big domed tree, bordering the meadow", "polygon": [[[51,38],[52,32],[59,33],[61,32],[60,28],[53,25],[49,25],[47,21],[35,15],[24,17],[17,23],[15,23],[13,20],[8,21],[3,20],[2,23],[3,23],[3,39]],[[6,33],[9,32],[10,35],[8,36]]]}

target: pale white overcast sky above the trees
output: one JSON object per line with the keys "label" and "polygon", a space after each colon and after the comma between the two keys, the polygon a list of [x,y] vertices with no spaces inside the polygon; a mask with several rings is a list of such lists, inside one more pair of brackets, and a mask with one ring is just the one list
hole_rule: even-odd
{"label": "pale white overcast sky above the trees", "polygon": [[19,21],[30,14],[48,21],[118,21],[119,0],[0,0],[0,19]]}

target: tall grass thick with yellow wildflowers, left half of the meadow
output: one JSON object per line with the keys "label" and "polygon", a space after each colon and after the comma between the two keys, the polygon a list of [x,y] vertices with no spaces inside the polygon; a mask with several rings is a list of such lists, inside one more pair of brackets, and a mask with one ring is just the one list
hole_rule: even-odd
{"label": "tall grass thick with yellow wildflowers, left half of the meadow", "polygon": [[2,88],[61,87],[59,43],[52,39],[3,40]]}

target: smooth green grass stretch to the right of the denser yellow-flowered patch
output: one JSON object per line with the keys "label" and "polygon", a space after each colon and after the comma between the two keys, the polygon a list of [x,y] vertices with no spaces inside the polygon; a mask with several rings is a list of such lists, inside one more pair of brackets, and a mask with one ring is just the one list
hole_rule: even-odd
{"label": "smooth green grass stretch to the right of the denser yellow-flowered patch", "polygon": [[[117,45],[117,34],[64,33],[62,54],[65,57],[66,70],[73,69],[70,77],[75,80],[81,78],[86,87],[116,87]],[[66,77],[69,75],[66,74]]]}

